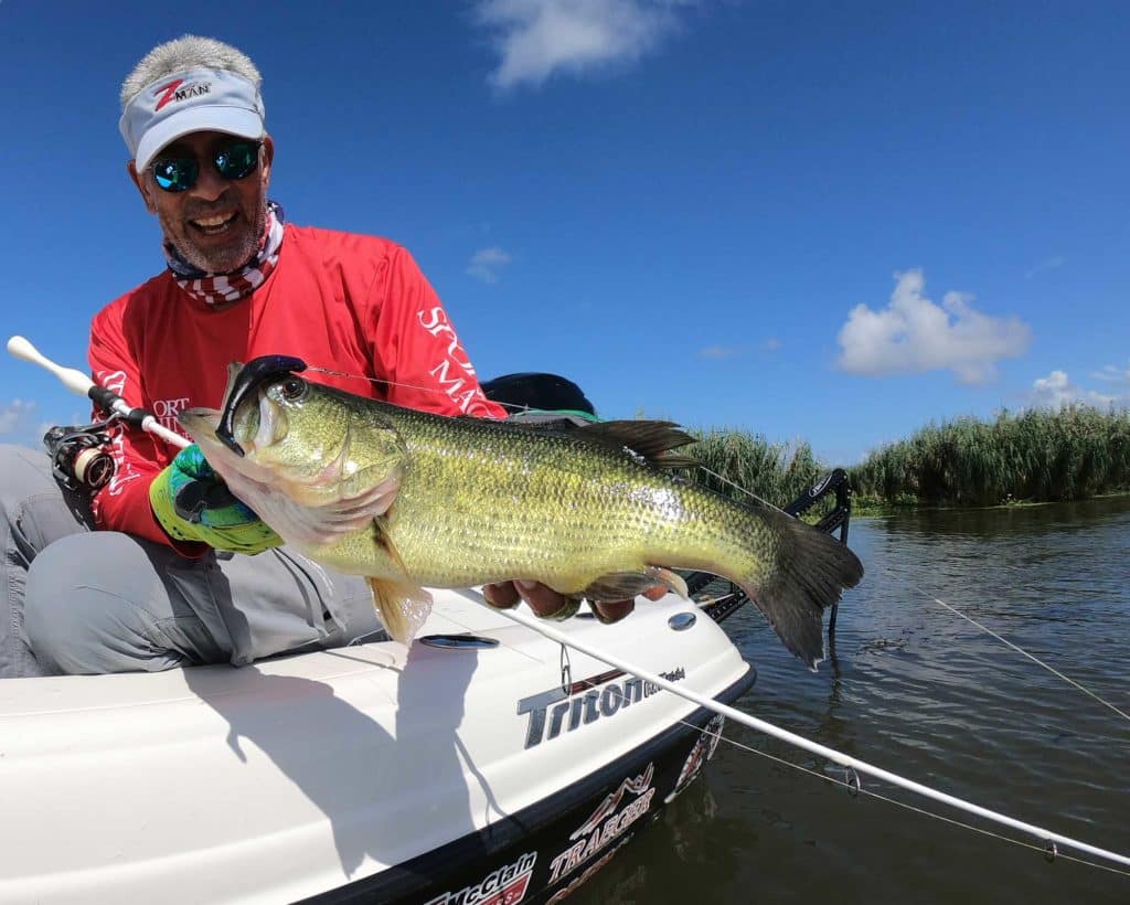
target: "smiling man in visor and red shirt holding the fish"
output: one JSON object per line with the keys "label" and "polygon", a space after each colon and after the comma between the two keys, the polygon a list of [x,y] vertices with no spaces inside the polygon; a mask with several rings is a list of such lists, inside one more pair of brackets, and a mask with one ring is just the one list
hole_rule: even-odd
{"label": "smiling man in visor and red shirt holding the fish", "polygon": [[[506,417],[402,247],[295,227],[268,200],[260,84],[243,53],[194,36],[155,47],[125,79],[129,174],[167,268],[94,319],[95,381],[175,429],[181,410],[218,407],[229,362],[285,354],[354,393]],[[111,453],[114,477],[87,501],[56,485],[42,453],[0,447],[0,677],[240,665],[380,629],[365,582],[281,547],[199,447],[120,428]],[[486,593],[540,616],[575,611],[544,585]],[[614,621],[632,606],[596,609]]]}

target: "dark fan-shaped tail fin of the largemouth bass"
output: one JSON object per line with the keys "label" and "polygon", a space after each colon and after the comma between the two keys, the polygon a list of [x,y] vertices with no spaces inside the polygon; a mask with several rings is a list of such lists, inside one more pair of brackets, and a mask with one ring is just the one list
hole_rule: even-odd
{"label": "dark fan-shaped tail fin of the largemouth bass", "polygon": [[776,562],[738,584],[784,646],[815,671],[824,659],[824,609],[840,600],[845,588],[859,584],[863,564],[845,545],[799,519],[764,514],[780,536]]}

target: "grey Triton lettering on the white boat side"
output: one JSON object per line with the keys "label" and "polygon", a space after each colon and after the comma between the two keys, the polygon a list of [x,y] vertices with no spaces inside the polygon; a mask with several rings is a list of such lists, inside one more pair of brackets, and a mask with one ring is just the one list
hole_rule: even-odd
{"label": "grey Triton lettering on the white boat side", "polygon": [[[556,739],[562,731],[573,732],[597,720],[615,716],[621,710],[651,697],[659,690],[658,685],[631,676],[605,688],[594,687],[621,676],[624,673],[619,670],[612,670],[573,682],[568,689],[558,686],[548,691],[523,697],[518,702],[518,714],[519,716],[524,713],[530,714],[530,722],[525,729],[525,747],[532,748],[546,739]],[[679,667],[670,672],[661,672],[660,676],[675,682],[687,678],[687,671]]]}

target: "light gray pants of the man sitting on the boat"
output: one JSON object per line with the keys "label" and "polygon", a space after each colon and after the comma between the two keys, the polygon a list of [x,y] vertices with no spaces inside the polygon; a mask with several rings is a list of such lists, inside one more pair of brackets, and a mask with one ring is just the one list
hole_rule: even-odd
{"label": "light gray pants of the man sitting on the boat", "polygon": [[93,531],[45,452],[0,445],[0,678],[244,665],[381,632],[364,578],[285,547],[186,559]]}

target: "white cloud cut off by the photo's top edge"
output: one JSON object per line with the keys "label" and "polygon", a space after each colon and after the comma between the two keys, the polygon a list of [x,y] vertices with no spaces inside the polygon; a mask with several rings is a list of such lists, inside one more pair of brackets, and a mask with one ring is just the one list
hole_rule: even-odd
{"label": "white cloud cut off by the photo's top edge", "polygon": [[555,72],[580,75],[631,63],[678,26],[694,0],[479,0],[476,15],[502,58],[498,88],[540,85]]}

